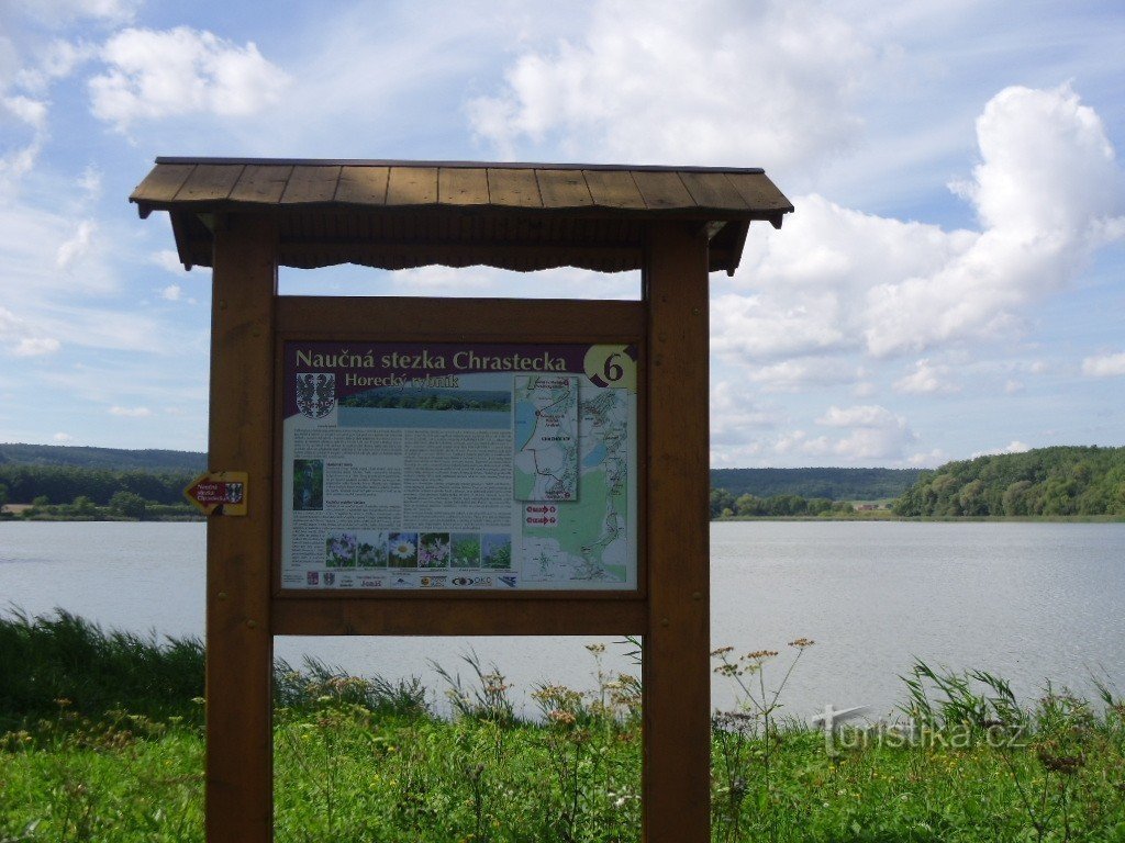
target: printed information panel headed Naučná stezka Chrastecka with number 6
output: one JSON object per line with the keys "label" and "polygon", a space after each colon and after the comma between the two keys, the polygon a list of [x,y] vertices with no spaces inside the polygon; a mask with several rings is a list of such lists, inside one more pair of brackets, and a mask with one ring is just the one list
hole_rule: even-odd
{"label": "printed information panel headed Nau\u010dn\u00e1 stezka Chrastecka with number 6", "polygon": [[636,347],[284,354],[284,589],[637,589]]}

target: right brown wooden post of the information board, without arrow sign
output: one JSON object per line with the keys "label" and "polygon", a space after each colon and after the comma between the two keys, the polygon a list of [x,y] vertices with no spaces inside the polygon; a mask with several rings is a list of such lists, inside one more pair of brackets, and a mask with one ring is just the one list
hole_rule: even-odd
{"label": "right brown wooden post of the information board, without arrow sign", "polygon": [[645,840],[705,843],[711,814],[708,242],[655,223],[648,301]]}

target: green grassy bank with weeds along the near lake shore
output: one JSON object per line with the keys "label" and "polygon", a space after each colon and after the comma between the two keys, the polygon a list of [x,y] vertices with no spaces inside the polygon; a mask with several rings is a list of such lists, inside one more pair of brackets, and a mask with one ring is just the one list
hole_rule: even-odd
{"label": "green grassy bank with weeds along the near lake shore", "polygon": [[[741,698],[714,719],[716,841],[1125,842],[1110,691],[1022,705],[996,677],[919,664],[909,727],[826,736],[780,718],[811,645],[716,653]],[[469,680],[447,674],[451,719],[416,682],[279,664],[277,840],[638,840],[639,687],[602,658],[591,689],[537,688],[537,722],[471,656]],[[201,841],[201,687],[198,642],[0,619],[0,841]]]}

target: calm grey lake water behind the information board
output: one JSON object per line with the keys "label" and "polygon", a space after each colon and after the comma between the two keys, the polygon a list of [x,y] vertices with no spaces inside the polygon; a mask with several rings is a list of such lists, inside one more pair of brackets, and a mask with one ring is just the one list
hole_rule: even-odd
{"label": "calm grey lake water behind the information board", "polygon": [[[0,611],[54,607],[107,627],[160,635],[204,631],[202,524],[0,524]],[[783,696],[807,716],[831,704],[884,716],[903,698],[915,656],[984,668],[1027,697],[1043,681],[1089,692],[1091,674],[1125,691],[1125,524],[739,522],[711,527],[712,644],[778,650],[781,679],[804,636]],[[530,691],[551,680],[593,687],[585,644],[613,638],[285,637],[277,654],[305,653],[358,673],[421,676],[443,703],[430,662],[456,671],[476,650]],[[464,663],[460,665],[464,671]],[[717,706],[732,703],[716,678]]]}

